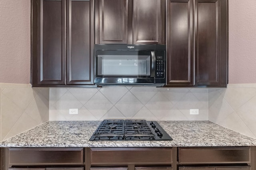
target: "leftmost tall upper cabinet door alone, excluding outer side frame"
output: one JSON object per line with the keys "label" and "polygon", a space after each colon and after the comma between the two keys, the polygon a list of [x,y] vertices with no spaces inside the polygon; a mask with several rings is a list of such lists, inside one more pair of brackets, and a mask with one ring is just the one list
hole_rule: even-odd
{"label": "leftmost tall upper cabinet door alone, excluding outer side frame", "polygon": [[65,84],[65,0],[41,0],[38,84]]}

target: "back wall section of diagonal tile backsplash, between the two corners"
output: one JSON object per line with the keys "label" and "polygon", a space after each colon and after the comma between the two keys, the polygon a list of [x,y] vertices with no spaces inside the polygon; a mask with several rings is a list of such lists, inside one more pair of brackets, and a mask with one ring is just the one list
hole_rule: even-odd
{"label": "back wall section of diagonal tile backsplash, between the two corners", "polygon": [[[208,120],[207,88],[105,86],[50,88],[50,121],[147,119]],[[70,115],[69,109],[78,109]],[[199,115],[190,115],[199,109]]]}

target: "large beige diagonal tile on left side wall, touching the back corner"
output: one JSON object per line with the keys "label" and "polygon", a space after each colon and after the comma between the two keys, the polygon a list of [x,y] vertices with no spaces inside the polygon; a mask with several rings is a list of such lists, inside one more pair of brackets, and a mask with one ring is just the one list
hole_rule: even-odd
{"label": "large beige diagonal tile on left side wall, touching the back corner", "polygon": [[35,99],[30,103],[30,105],[26,108],[25,112],[32,117],[38,123],[42,123],[42,121],[48,121],[46,119],[46,115],[49,115],[49,101],[43,96],[43,94],[38,93]]}

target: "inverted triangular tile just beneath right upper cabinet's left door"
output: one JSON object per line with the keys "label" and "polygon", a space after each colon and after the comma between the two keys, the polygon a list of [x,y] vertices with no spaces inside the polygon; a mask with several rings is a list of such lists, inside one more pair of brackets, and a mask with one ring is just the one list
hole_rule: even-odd
{"label": "inverted triangular tile just beneath right upper cabinet's left door", "polygon": [[172,104],[178,103],[189,92],[189,88],[159,88],[159,90]]}

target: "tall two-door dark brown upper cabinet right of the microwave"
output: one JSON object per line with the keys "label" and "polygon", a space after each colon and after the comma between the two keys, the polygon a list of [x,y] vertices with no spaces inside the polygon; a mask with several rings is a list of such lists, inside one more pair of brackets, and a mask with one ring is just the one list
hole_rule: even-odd
{"label": "tall two-door dark brown upper cabinet right of the microwave", "polygon": [[226,87],[227,0],[168,0],[167,86]]}

